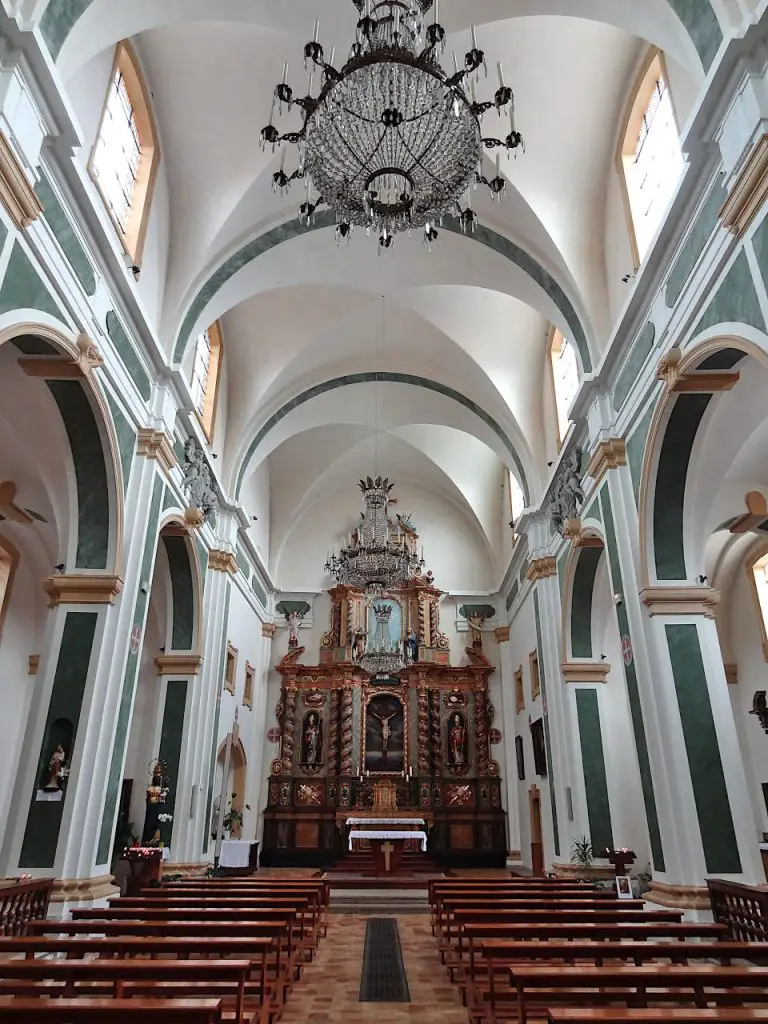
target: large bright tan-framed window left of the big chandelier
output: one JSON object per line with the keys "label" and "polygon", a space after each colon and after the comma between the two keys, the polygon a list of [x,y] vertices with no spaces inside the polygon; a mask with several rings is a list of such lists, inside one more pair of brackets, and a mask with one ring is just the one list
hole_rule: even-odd
{"label": "large bright tan-framed window left of the big chandelier", "polygon": [[115,51],[89,170],[134,265],[141,261],[160,146],[150,92],[130,43]]}

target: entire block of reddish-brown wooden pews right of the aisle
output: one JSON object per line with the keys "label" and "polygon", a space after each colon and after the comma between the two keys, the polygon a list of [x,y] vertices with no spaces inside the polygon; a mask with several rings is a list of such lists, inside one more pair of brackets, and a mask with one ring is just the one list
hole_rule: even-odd
{"label": "entire block of reddish-brown wooden pews right of the aisle", "polygon": [[436,879],[429,902],[472,1024],[768,1022],[768,943],[722,925],[558,879]]}

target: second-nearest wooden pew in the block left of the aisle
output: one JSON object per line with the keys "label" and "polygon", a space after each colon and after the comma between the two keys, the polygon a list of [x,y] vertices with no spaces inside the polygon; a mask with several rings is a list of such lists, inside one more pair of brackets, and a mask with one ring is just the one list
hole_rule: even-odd
{"label": "second-nearest wooden pew in the block left of the aisle", "polygon": [[260,1006],[246,1016],[251,968],[248,959],[7,961],[0,965],[0,997],[217,997],[233,1001],[237,1024],[250,1024]]}

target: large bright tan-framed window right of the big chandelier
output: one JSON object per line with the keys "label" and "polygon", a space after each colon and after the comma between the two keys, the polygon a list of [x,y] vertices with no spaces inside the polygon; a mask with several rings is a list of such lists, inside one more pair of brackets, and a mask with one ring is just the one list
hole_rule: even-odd
{"label": "large bright tan-framed window right of the big chandelier", "polygon": [[636,81],[616,164],[637,268],[662,223],[684,166],[660,50],[650,51]]}

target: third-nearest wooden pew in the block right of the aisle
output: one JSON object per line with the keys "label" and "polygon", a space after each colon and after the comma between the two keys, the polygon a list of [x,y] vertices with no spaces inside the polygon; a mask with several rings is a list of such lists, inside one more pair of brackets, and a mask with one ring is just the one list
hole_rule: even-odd
{"label": "third-nearest wooden pew in the block right of the aisle", "polygon": [[514,1004],[516,993],[509,980],[514,964],[544,966],[547,961],[574,965],[577,962],[601,967],[606,962],[632,962],[636,966],[659,961],[687,965],[690,961],[714,959],[729,967],[733,959],[751,958],[768,965],[768,942],[530,942],[508,939],[469,938],[467,971],[459,979],[462,1001],[470,1018],[494,1019],[503,1002]]}

